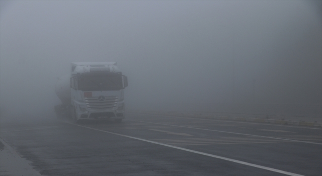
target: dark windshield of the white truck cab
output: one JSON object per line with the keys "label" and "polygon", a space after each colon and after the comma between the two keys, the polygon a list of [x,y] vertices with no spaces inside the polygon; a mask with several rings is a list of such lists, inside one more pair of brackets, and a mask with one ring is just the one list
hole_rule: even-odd
{"label": "dark windshield of the white truck cab", "polygon": [[123,88],[121,74],[89,74],[78,76],[78,90],[119,91]]}

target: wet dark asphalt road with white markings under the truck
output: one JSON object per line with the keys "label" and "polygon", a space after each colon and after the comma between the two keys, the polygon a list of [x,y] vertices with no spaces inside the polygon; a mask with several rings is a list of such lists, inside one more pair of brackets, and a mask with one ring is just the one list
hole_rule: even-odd
{"label": "wet dark asphalt road with white markings under the truck", "polygon": [[43,175],[322,175],[321,128],[140,114],[1,125]]}

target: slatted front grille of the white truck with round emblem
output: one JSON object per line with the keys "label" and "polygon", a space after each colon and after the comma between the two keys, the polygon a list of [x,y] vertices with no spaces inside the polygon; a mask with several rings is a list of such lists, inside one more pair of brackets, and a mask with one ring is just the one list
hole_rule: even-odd
{"label": "slatted front grille of the white truck with round emblem", "polygon": [[100,97],[91,97],[85,98],[86,105],[89,109],[92,110],[106,110],[106,109],[113,109],[117,105],[118,97],[104,97],[104,101],[100,101],[99,98],[102,100],[102,96]]}

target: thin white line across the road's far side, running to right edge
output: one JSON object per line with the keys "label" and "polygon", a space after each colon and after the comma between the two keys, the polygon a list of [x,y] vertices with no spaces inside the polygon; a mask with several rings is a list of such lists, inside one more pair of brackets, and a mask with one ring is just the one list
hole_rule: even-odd
{"label": "thin white line across the road's far side, running to right edge", "polygon": [[[145,122],[145,121],[138,121],[138,120],[130,120],[130,121]],[[154,122],[145,122],[145,123],[160,124],[160,125],[169,125],[169,124],[154,123]],[[265,137],[265,138],[270,138],[270,139],[280,139],[280,140],[287,140],[287,141],[293,141],[293,142],[302,142],[302,143],[322,145],[322,143],[316,143],[316,142],[298,141],[298,140],[283,139],[283,138],[269,137],[269,136],[259,136],[259,135],[254,135],[254,134],[234,133],[234,132],[229,132],[229,131],[210,130],[210,129],[195,128],[195,127],[186,127],[186,126],[180,126],[180,125],[169,125],[169,126],[176,126],[176,127],[182,127],[182,128],[192,128],[192,129],[206,130],[206,131],[215,131],[215,132],[220,132],[220,133],[239,134],[239,135],[246,135],[246,136]]]}

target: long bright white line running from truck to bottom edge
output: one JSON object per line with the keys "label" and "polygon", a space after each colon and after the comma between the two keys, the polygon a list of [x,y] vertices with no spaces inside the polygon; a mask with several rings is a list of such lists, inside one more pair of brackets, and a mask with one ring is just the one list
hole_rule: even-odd
{"label": "long bright white line running from truck to bottom edge", "polygon": [[154,142],[154,141],[141,139],[141,138],[137,138],[137,137],[133,137],[133,136],[128,136],[128,135],[124,135],[124,134],[113,133],[113,132],[100,130],[100,129],[96,129],[96,128],[91,128],[91,127],[87,127],[87,126],[83,126],[83,125],[77,125],[77,124],[72,124],[72,123],[69,123],[69,124],[76,125],[76,126],[79,126],[79,127],[88,128],[88,129],[92,129],[92,130],[96,130],[96,131],[101,131],[101,132],[104,132],[104,133],[114,134],[114,135],[123,136],[123,137],[136,139],[136,140],[140,140],[140,141],[145,141],[145,142],[149,142],[149,143],[153,143],[153,144],[157,144],[157,145],[163,145],[163,146],[166,146],[166,147],[176,148],[176,149],[179,149],[179,150],[184,150],[184,151],[197,153],[197,154],[201,154],[201,155],[205,155],[205,156],[210,156],[210,157],[213,157],[213,158],[223,159],[223,160],[226,160],[226,161],[231,161],[231,162],[235,162],[235,163],[239,163],[239,164],[253,166],[253,167],[257,167],[257,168],[261,168],[261,169],[265,169],[265,170],[270,170],[270,171],[274,171],[274,172],[278,172],[278,173],[283,173],[283,174],[286,174],[286,175],[304,176],[304,175],[300,175],[300,174],[296,174],[296,173],[292,173],[292,172],[287,172],[287,171],[283,171],[283,170],[279,170],[279,169],[275,169],[275,168],[265,167],[265,166],[262,166],[262,165],[252,164],[252,163],[249,163],[249,162],[239,161],[239,160],[236,160],[236,159],[230,159],[230,158],[217,156],[217,155],[213,155],[213,154],[209,154],[209,153],[204,153],[204,152],[200,152],[200,151],[196,151],[196,150],[190,150],[190,149],[187,149],[187,148],[182,148],[182,147],[177,147],[177,146],[168,145],[168,144],[164,144],[164,143]]}

